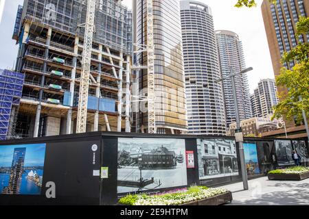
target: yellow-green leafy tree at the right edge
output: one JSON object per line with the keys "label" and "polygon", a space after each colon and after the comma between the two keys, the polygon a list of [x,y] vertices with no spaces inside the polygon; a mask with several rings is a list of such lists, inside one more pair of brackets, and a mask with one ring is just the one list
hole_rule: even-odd
{"label": "yellow-green leafy tree at the right edge", "polygon": [[[309,18],[300,17],[297,23],[297,36],[309,34]],[[274,107],[273,118],[286,116],[288,120],[303,120],[302,110],[309,118],[309,43],[299,42],[297,47],[288,53],[284,53],[282,63],[295,62],[295,66],[288,70],[282,68],[279,76],[276,77],[277,86],[288,88],[288,93],[280,92],[279,97],[282,101]],[[301,97],[301,100],[300,98]]]}

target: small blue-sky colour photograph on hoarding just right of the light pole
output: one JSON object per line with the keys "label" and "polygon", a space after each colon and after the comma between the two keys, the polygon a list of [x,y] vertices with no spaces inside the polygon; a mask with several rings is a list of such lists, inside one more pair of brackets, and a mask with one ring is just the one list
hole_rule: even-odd
{"label": "small blue-sky colour photograph on hoarding just right of the light pole", "polygon": [[248,175],[260,174],[256,144],[244,143],[244,160]]}

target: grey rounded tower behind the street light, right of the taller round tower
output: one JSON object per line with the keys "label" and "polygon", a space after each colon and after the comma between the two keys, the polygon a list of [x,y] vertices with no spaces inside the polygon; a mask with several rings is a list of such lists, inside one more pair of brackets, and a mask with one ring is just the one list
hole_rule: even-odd
{"label": "grey rounded tower behind the street light, right of the taller round tower", "polygon": [[[238,35],[232,31],[218,30],[216,31],[216,39],[222,77],[229,77],[231,68],[233,68],[234,73],[239,73],[241,70],[243,70],[246,65],[244,62],[242,43],[240,42]],[[238,75],[235,77],[235,81],[240,120],[251,118],[252,112],[247,75]],[[236,121],[233,89],[231,80],[224,80],[222,83],[223,94],[225,98],[227,127],[229,127],[231,123]]]}

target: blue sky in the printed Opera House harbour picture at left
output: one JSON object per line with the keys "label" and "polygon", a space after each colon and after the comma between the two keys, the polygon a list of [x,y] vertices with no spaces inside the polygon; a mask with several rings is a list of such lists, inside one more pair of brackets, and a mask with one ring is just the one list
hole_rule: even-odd
{"label": "blue sky in the printed Opera House harbour picture at left", "polygon": [[26,148],[24,166],[44,166],[46,144],[19,144],[0,146],[0,167],[12,166],[15,148]]}

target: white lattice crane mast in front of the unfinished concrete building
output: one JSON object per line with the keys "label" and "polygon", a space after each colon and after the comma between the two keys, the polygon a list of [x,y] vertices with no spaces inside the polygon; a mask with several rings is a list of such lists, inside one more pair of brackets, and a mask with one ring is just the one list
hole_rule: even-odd
{"label": "white lattice crane mast in front of the unfinished concrete building", "polygon": [[78,101],[77,133],[84,133],[87,129],[89,77],[95,20],[95,3],[96,0],[88,0],[87,3],[87,17],[84,30],[84,49],[82,54],[82,73],[80,75],[80,95]]}

